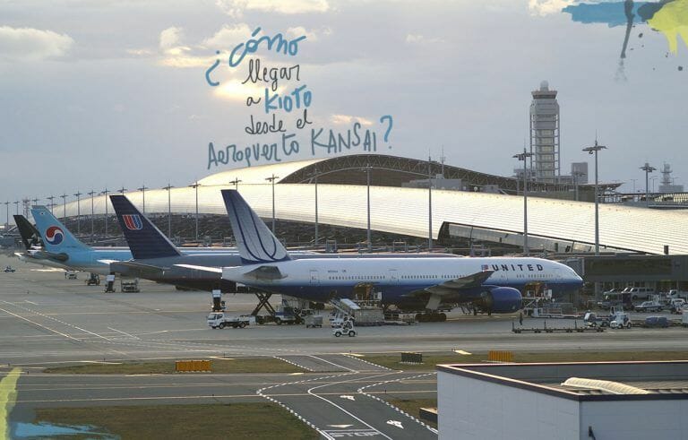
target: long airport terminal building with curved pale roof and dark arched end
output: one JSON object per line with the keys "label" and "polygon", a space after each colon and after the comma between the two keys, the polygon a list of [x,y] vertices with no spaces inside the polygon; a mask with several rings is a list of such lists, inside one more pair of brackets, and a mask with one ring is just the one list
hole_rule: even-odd
{"label": "long airport terminal building with curved pale roof and dark arched end", "polygon": [[[274,185],[266,180],[271,177]],[[579,198],[591,200],[592,186],[578,186]],[[196,210],[199,216],[225,215],[219,190],[226,188],[237,188],[264,219],[271,219],[274,202],[276,219],[307,224],[315,222],[317,197],[319,224],[355,229],[367,228],[369,191],[374,231],[424,238],[432,235],[434,240],[461,237],[505,246],[523,244],[523,198],[517,179],[394,156],[358,154],[231,169],[205,177],[196,185],[125,195],[140,209],[145,204],[148,214],[167,215],[170,211],[193,218]],[[533,253],[576,255],[594,250],[594,204],[572,200],[574,189],[548,183],[529,187],[528,233]],[[76,202],[56,205],[54,211],[58,217],[66,214],[68,218],[79,211],[84,218],[90,215],[91,203],[96,216],[106,209],[113,212],[105,195],[82,198],[80,206]],[[431,204],[432,220],[428,215]],[[688,254],[687,215],[686,211],[601,203],[600,250]],[[114,223],[110,226],[116,227]]]}

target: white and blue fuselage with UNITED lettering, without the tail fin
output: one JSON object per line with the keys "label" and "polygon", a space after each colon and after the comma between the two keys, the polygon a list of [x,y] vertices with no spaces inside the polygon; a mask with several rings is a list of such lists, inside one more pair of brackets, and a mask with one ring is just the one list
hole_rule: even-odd
{"label": "white and blue fuselage with UNITED lettering, without the tail fin", "polygon": [[[273,266],[279,277],[262,277],[258,267]],[[289,260],[278,263],[225,267],[222,276],[256,289],[285,294],[312,301],[329,298],[353,298],[355,289],[370,286],[382,293],[383,303],[400,304],[417,301],[417,294],[445,281],[458,280],[471,274],[494,271],[479,286],[462,289],[463,298],[477,298],[491,287],[522,289],[526,284],[541,282],[553,293],[581,287],[579,277],[570,267],[539,258],[380,258]],[[273,279],[271,279],[273,278]],[[443,298],[452,302],[451,297]]]}

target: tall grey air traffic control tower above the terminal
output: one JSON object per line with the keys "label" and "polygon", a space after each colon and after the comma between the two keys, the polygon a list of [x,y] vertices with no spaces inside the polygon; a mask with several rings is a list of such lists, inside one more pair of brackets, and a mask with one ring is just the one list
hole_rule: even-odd
{"label": "tall grey air traffic control tower above the terminal", "polygon": [[[534,154],[535,179],[538,182],[556,183],[560,175],[559,156],[559,103],[556,91],[549,90],[546,81],[540,90],[532,91],[530,103],[530,152]],[[533,159],[531,159],[533,160]],[[533,167],[534,165],[534,167]]]}

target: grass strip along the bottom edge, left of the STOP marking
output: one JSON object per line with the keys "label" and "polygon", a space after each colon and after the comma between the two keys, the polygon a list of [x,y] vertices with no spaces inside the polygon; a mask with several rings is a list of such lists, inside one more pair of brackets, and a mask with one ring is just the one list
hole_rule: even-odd
{"label": "grass strip along the bottom edge, left of the STOP marking", "polygon": [[35,420],[37,423],[47,422],[56,425],[90,425],[95,427],[94,431],[107,430],[123,440],[319,438],[313,428],[306,426],[279,405],[268,402],[43,408],[36,410]]}

